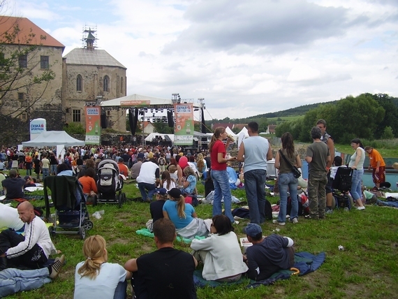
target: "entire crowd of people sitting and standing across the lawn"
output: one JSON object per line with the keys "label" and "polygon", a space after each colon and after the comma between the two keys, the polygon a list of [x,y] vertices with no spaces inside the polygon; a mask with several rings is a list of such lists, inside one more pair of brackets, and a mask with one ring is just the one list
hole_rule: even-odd
{"label": "entire crowd of people sitting and standing across the lawn", "polygon": [[[154,233],[157,250],[132,258],[121,266],[108,262],[106,241],[101,235],[87,238],[82,249],[85,259],[75,268],[75,298],[126,298],[128,280],[131,280],[135,298],[196,298],[193,271],[198,263],[203,264],[202,277],[216,282],[237,282],[243,275],[259,281],[278,270],[289,269],[294,263],[295,249],[291,238],[274,234],[263,236],[260,225],[267,219],[265,177],[267,161],[273,154],[268,140],[258,136],[258,124],[250,122],[248,128],[249,138],[243,140],[237,156],[227,153],[233,138],[222,127],[215,129],[209,150],[201,152],[184,152],[179,147],[162,145],[146,148],[93,146],[68,149],[65,158],[56,158],[52,149],[41,152],[37,149],[24,152],[6,149],[0,158],[10,169],[10,179],[3,180],[2,185],[6,196],[23,197],[20,192],[24,186],[28,181],[34,182],[30,176],[33,169],[36,182],[47,175],[76,175],[84,194],[96,196],[96,166],[103,159],[117,161],[120,175],[136,180],[142,201],[150,203],[152,219],[146,226]],[[305,156],[309,163],[308,218],[323,219],[332,210],[331,184],[342,161],[339,156],[334,158],[333,140],[326,133],[323,119],[311,129],[311,137],[314,143],[309,145]],[[300,168],[302,162],[290,133],[281,136],[281,144],[282,148],[275,156],[275,167],[279,169],[280,210],[274,223],[283,226],[286,225],[288,193],[291,198],[290,221],[298,223],[298,180],[293,166]],[[357,209],[364,210],[360,184],[364,152],[371,156],[369,167],[374,168],[376,186],[385,180],[385,163],[376,149],[364,149],[359,139],[352,140],[351,146],[355,150],[348,164],[354,170],[351,194]],[[230,161],[243,163],[249,205],[249,224],[244,233],[253,244],[244,254],[234,233],[237,221],[231,213],[232,196],[227,173]],[[23,171],[21,168],[27,171],[24,179],[17,175],[17,169]],[[197,194],[196,184],[204,176],[207,181],[212,181],[214,189],[212,219],[198,217],[193,202],[187,201]],[[0,217],[0,220],[6,219],[0,227],[10,229],[0,233],[0,270],[3,270],[0,271],[0,286],[7,286],[0,289],[0,296],[36,289],[51,282],[57,277],[65,257],[48,263],[50,254],[60,252],[52,244],[43,220],[34,214],[34,207],[29,202],[21,203],[17,209],[0,204],[0,216],[2,213],[7,213],[8,217]],[[24,229],[24,236],[17,232],[21,229]],[[191,254],[174,249],[177,235],[192,240]],[[206,238],[198,240],[194,237]],[[17,284],[23,279],[28,282]]]}

